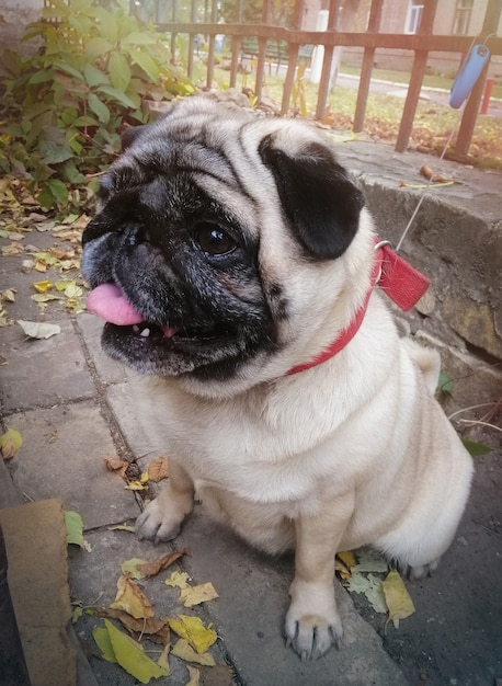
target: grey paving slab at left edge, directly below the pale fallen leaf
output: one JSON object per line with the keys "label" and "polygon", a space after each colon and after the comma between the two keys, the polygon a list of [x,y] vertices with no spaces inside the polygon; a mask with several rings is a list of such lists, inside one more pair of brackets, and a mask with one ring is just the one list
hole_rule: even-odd
{"label": "grey paving slab at left edge, directly below the pale fallen leaf", "polygon": [[0,330],[0,369],[5,414],[91,398],[95,392],[78,336],[69,319],[52,321],[61,332],[27,339],[19,325]]}

